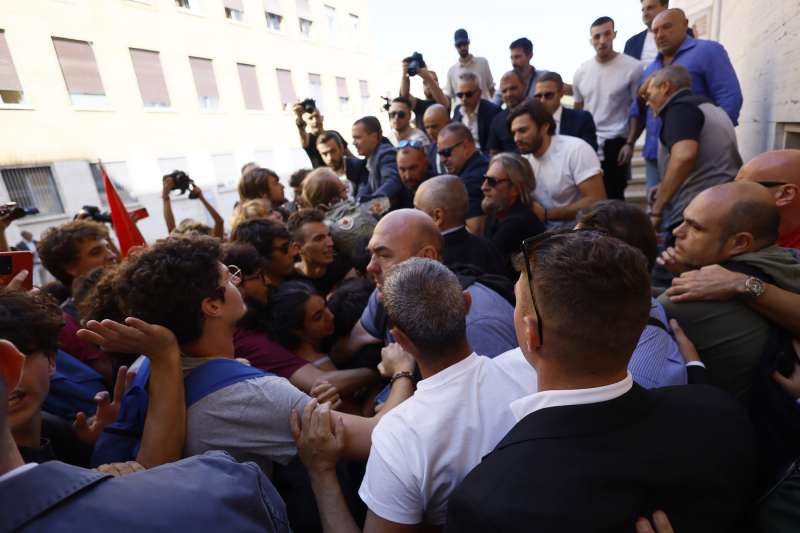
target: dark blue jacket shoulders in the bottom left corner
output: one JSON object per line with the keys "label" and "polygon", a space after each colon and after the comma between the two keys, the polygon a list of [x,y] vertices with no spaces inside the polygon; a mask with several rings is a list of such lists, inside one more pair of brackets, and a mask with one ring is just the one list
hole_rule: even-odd
{"label": "dark blue jacket shoulders in the bottom left corner", "polygon": [[223,452],[123,477],[51,461],[0,483],[0,502],[0,531],[290,531],[258,466]]}

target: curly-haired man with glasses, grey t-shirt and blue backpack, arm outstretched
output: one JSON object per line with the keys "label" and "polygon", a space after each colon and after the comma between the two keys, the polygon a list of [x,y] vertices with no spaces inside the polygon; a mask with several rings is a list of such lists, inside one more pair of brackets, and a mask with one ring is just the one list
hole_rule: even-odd
{"label": "curly-haired man with glasses, grey t-shirt and blue backpack, arm outstretched", "polygon": [[[234,331],[246,306],[237,289],[238,267],[224,265],[220,257],[216,239],[172,237],[129,257],[115,279],[125,314],[175,335],[185,377],[214,360],[234,358]],[[400,403],[411,391],[410,380],[400,380],[387,403]],[[268,373],[220,387],[188,407],[185,454],[224,450],[265,471],[272,461],[286,464],[297,453],[290,414],[310,400],[286,379]],[[337,416],[348,434],[347,455],[366,458],[377,420]]]}

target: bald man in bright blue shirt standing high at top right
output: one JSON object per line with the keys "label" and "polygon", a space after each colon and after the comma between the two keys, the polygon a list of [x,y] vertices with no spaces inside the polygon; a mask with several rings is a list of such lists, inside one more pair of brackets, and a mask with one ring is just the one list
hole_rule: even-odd
{"label": "bald man in bright blue shirt standing high at top right", "polygon": [[[742,89],[736,71],[725,48],[716,41],[695,39],[687,34],[689,23],[680,9],[667,9],[653,19],[652,29],[658,47],[655,61],[645,68],[640,85],[665,65],[683,65],[691,73],[692,93],[709,98],[721,107],[734,125],[742,108]],[[647,164],[647,187],[652,189],[661,181],[658,165],[658,139],[661,124],[641,100],[631,105],[628,138],[620,151],[620,164],[630,161],[633,145],[647,125],[642,155]],[[661,169],[663,172],[663,169]]]}

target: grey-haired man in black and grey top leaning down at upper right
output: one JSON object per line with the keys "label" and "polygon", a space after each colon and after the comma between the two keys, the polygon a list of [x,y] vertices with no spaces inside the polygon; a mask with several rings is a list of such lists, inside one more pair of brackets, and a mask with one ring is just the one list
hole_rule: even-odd
{"label": "grey-haired man in black and grey top leaning down at upper right", "polygon": [[682,65],[656,71],[647,85],[647,104],[662,124],[662,179],[650,213],[656,231],[678,227],[698,193],[733,181],[742,166],[730,117],[710,99],[693,94],[691,85]]}

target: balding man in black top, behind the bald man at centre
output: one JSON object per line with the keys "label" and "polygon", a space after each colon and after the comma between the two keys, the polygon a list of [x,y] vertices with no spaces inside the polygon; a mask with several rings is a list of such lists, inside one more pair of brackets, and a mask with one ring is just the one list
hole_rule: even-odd
{"label": "balding man in black top, behind the bald man at centre", "polygon": [[417,189],[414,207],[430,216],[439,228],[445,265],[471,265],[487,274],[508,274],[492,242],[467,231],[469,197],[461,178],[445,174],[429,179]]}

